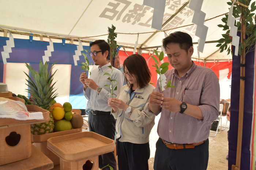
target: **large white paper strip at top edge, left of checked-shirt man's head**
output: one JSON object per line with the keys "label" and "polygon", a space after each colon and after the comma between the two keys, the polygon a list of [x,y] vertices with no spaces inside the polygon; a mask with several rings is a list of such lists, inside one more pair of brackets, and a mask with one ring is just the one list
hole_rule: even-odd
{"label": "large white paper strip at top edge, left of checked-shirt man's head", "polygon": [[154,8],[151,28],[161,31],[166,0],[143,0],[143,5]]}

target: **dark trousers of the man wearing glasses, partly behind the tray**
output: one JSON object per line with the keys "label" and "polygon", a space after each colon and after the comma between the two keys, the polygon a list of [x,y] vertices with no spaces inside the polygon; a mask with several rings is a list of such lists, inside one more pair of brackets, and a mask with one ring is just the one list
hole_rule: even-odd
{"label": "dark trousers of the man wearing glasses, partly behind the tray", "polygon": [[[107,138],[113,139],[116,132],[116,120],[113,115],[104,114],[104,115],[93,115],[89,113],[88,118],[89,130],[95,132]],[[114,152],[109,152],[107,154],[99,155],[99,168],[102,168],[106,165],[110,165],[114,170],[117,169],[116,158]],[[109,167],[104,168],[103,170],[110,170]]]}

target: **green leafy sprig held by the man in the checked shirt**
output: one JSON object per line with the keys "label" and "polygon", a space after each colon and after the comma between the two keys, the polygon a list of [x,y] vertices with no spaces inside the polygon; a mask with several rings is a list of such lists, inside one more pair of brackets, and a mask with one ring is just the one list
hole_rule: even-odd
{"label": "green leafy sprig held by the man in the checked shirt", "polygon": [[151,57],[154,59],[155,61],[155,65],[153,65],[153,67],[156,68],[155,72],[157,72],[157,74],[159,74],[159,81],[160,81],[160,87],[161,87],[161,93],[163,92],[163,90],[167,89],[167,88],[174,88],[175,86],[172,86],[172,82],[169,80],[167,82],[167,86],[165,89],[162,90],[162,79],[161,79],[161,74],[165,74],[168,70],[168,66],[169,66],[169,62],[164,62],[160,65],[161,61],[163,60],[163,51],[161,51],[160,54],[158,54],[157,50],[154,50],[155,51],[155,55],[157,55],[158,57],[158,60],[152,55]]}

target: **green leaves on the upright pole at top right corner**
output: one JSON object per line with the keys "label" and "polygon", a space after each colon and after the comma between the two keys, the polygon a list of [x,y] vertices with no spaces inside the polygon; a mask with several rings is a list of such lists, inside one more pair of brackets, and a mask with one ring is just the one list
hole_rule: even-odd
{"label": "green leaves on the upright pole at top right corner", "polygon": [[[239,0],[240,3],[244,5],[249,5],[251,3],[251,0]],[[228,5],[232,5],[231,2],[227,2]],[[246,26],[245,29],[245,34],[246,38],[244,40],[244,44],[240,43],[240,46],[238,47],[238,53],[241,55],[242,50],[245,50],[245,54],[249,53],[252,51],[255,47],[255,41],[256,41],[256,15],[255,13],[252,13],[253,11],[256,10],[256,5],[255,1],[251,4],[251,11],[249,8],[245,8],[242,5],[239,4],[234,4],[233,6],[233,16],[235,17],[235,26],[238,27],[238,31],[241,32],[241,24]],[[253,23],[253,15],[254,16],[254,23]],[[225,15],[224,18],[222,18],[222,22],[224,24],[219,24],[218,27],[223,28],[223,30],[226,30],[226,34],[222,34],[221,39],[217,40],[218,44],[216,47],[219,47],[221,49],[221,53],[226,50],[227,54],[230,53],[231,49],[231,42],[232,42],[232,37],[229,36],[230,33],[230,28],[227,26],[227,18],[229,15]],[[243,23],[241,23],[243,22]],[[232,54],[232,53],[231,53]]]}

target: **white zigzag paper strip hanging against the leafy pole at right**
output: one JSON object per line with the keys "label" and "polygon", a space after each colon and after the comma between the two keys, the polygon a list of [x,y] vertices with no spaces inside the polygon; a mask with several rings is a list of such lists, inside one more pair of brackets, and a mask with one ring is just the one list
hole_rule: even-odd
{"label": "white zigzag paper strip hanging against the leafy pole at right", "polygon": [[237,27],[235,26],[235,18],[232,15],[233,13],[233,6],[235,1],[233,1],[230,9],[229,9],[229,16],[227,18],[227,26],[230,27],[229,35],[232,36],[232,45],[235,46],[235,55],[238,55],[238,47],[239,47],[239,36],[237,36]]}

